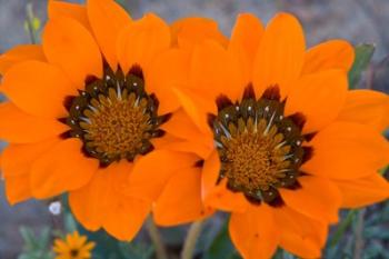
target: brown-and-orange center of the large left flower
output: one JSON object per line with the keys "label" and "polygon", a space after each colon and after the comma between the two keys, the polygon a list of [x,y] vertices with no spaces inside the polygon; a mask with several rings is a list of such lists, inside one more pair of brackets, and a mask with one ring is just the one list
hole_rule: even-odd
{"label": "brown-and-orange center of the large left flower", "polygon": [[80,138],[83,151],[102,166],[151,151],[150,140],[163,135],[159,126],[169,118],[158,117],[158,100],[144,91],[139,67],[126,76],[106,68],[102,79],[88,80],[84,91],[67,102],[68,136]]}

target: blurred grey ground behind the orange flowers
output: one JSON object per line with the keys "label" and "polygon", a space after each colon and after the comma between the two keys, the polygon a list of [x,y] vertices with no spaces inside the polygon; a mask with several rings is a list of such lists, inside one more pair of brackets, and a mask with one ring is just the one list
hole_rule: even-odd
{"label": "blurred grey ground behind the orange flowers", "polygon": [[[14,44],[29,42],[24,30],[26,4],[46,20],[47,0],[0,0],[0,53]],[[73,1],[82,2],[82,1]],[[373,64],[361,87],[389,90],[389,0],[121,0],[133,18],[157,12],[173,21],[186,16],[209,17],[229,34],[240,12],[252,12],[268,21],[278,11],[295,13],[306,30],[309,46],[326,39],[342,38],[358,43],[375,43]],[[365,84],[366,86],[366,84]],[[43,202],[28,201],[11,208],[0,182],[0,259],[17,258],[21,251],[20,226],[40,229],[52,225]],[[383,230],[385,231],[385,230]],[[387,230],[389,231],[389,230]]]}

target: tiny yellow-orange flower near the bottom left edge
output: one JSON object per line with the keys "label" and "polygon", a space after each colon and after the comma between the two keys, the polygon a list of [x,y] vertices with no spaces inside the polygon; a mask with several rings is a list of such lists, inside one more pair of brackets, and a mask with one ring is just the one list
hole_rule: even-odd
{"label": "tiny yellow-orange flower near the bottom left edge", "polygon": [[66,239],[56,239],[53,251],[56,259],[89,259],[94,242],[88,241],[86,236],[80,236],[77,231],[68,233]]}

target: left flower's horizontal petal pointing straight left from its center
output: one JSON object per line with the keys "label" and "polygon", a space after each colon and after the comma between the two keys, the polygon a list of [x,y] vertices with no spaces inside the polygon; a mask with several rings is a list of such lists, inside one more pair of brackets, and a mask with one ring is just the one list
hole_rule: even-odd
{"label": "left flower's horizontal petal pointing straight left from its center", "polygon": [[0,138],[12,143],[38,142],[68,130],[57,120],[27,114],[11,102],[0,104]]}

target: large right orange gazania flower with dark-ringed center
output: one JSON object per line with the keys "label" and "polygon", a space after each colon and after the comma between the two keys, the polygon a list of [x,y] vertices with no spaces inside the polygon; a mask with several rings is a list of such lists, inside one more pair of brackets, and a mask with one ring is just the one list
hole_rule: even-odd
{"label": "large right orange gazania flower with dark-ringed center", "polygon": [[[340,208],[388,198],[378,173],[389,162],[380,135],[388,97],[349,91],[352,62],[342,40],[306,50],[287,13],[266,29],[242,14],[227,48],[193,47],[187,82],[176,89],[184,110],[163,128],[203,157],[202,199],[231,213],[229,232],[245,258],[270,258],[278,246],[318,258]],[[176,193],[190,202],[196,193],[182,182]],[[173,223],[166,208],[168,199],[157,202],[156,219]]]}

